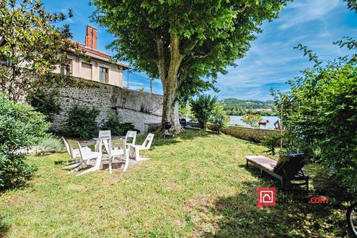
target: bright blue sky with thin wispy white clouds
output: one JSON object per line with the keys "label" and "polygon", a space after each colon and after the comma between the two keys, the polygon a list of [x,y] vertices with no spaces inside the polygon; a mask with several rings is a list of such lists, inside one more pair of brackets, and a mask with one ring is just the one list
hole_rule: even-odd
{"label": "bright blue sky with thin wispy white clouds", "polygon": [[[73,10],[73,18],[66,23],[71,26],[73,39],[84,43],[85,25],[91,23],[95,8],[89,6],[86,0],[45,0],[45,8],[49,12]],[[323,61],[344,56],[345,49],[332,45],[333,41],[342,36],[357,38],[357,15],[347,10],[342,0],[297,0],[289,3],[280,13],[279,19],[269,23],[264,22],[264,32],[258,34],[257,40],[251,43],[251,50],[246,57],[236,61],[238,67],[228,67],[229,73],[221,75],[217,87],[218,98],[238,98],[268,100],[271,99],[270,89],[274,87],[281,91],[288,90],[286,81],[300,74],[302,69],[311,67],[308,58],[293,47],[299,43],[308,45]],[[104,28],[98,29],[98,49],[109,54],[105,46],[111,43],[113,36]],[[139,89],[144,87],[150,91],[150,80],[143,72],[129,74],[129,87]],[[126,84],[126,74],[124,75]],[[159,80],[154,80],[153,91],[162,94]],[[214,92],[209,92],[215,94]]]}

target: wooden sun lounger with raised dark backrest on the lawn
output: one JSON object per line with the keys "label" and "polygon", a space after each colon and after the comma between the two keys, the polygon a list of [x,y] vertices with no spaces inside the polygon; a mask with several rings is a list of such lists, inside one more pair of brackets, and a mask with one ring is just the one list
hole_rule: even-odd
{"label": "wooden sun lounger with raised dark backrest on the lawn", "polygon": [[297,185],[305,184],[308,188],[309,177],[303,173],[303,154],[292,154],[289,155],[286,160],[279,161],[271,160],[263,155],[249,155],[245,156],[246,167],[251,163],[255,167],[260,169],[260,175],[263,176],[263,171],[276,177],[281,182],[281,187],[283,189],[290,186],[292,180],[304,181]]}

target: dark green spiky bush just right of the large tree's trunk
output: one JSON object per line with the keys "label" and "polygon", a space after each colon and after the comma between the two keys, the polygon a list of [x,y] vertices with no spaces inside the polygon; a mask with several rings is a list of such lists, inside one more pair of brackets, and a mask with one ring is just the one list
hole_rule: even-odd
{"label": "dark green spiky bush just right of the large tree's trunk", "polygon": [[191,102],[192,113],[198,121],[201,128],[207,128],[207,122],[212,116],[217,98],[211,95],[199,95],[198,98]]}

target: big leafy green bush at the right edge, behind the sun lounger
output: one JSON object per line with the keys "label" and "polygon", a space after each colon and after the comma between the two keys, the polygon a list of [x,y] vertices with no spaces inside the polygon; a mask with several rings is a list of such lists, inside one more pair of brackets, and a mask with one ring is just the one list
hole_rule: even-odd
{"label": "big leafy green bush at the right edge, behind the sun lounger", "polygon": [[[353,50],[352,56],[321,64],[316,54],[300,45],[315,62],[291,81],[284,101],[284,127],[290,140],[312,162],[334,168],[342,186],[357,194],[357,41],[339,41]],[[323,65],[323,66],[321,66]],[[278,107],[278,108],[279,108]]]}

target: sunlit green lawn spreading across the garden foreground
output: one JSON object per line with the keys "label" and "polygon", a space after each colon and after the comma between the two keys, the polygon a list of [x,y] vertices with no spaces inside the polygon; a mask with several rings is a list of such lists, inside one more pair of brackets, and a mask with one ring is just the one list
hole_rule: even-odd
{"label": "sunlit green lawn spreading across the garden foreground", "polygon": [[[143,136],[139,142],[143,141]],[[38,172],[25,188],[0,195],[0,237],[345,237],[345,207],[310,165],[311,186],[329,204],[277,204],[257,209],[257,188],[279,186],[244,155],[265,147],[209,131],[186,130],[163,140],[151,158],[117,169],[66,175],[66,153],[32,157]],[[279,197],[278,197],[279,199]]]}

